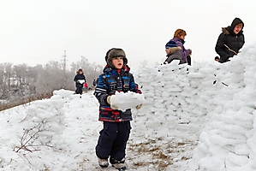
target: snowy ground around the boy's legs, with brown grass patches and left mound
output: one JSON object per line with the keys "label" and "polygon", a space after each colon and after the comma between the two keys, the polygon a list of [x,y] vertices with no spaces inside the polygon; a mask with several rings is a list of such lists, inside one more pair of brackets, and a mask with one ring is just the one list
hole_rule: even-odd
{"label": "snowy ground around the boy's legs, with brown grass patches and left mound", "polygon": [[[0,113],[0,169],[2,170],[101,170],[95,156],[95,145],[102,123],[98,121],[98,101],[92,91],[73,95],[73,91],[55,91],[51,99],[45,99],[7,109]],[[51,115],[54,114],[54,115]],[[64,116],[63,118],[60,118]],[[41,119],[40,119],[41,118]],[[34,144],[50,141],[46,144],[19,150],[23,129],[36,123],[45,123],[50,127],[40,134]],[[128,170],[182,170],[191,158],[198,135],[194,135],[187,124],[162,127],[164,134],[146,135],[146,127],[141,127],[146,116],[134,115],[133,131],[128,141]],[[64,121],[64,122],[63,122]],[[44,121],[43,121],[44,122]],[[153,121],[152,121],[153,122]],[[50,125],[49,125],[50,123]],[[63,127],[64,126],[64,127]],[[152,129],[152,130],[151,130]],[[46,137],[45,137],[46,135]],[[181,160],[180,160],[181,159]],[[174,167],[174,168],[173,168]],[[173,169],[172,169],[173,168]],[[176,168],[176,169],[175,169]],[[105,170],[115,170],[112,167]]]}

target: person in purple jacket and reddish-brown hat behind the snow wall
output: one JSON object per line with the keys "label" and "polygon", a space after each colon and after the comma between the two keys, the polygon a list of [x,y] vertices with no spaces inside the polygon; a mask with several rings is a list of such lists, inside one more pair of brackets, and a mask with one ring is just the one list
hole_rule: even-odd
{"label": "person in purple jacket and reddish-brown hat behind the snow wall", "polygon": [[183,63],[188,63],[188,65],[191,65],[190,55],[192,53],[192,50],[186,50],[184,47],[186,35],[187,32],[185,30],[177,29],[176,32],[174,33],[174,38],[172,38],[170,41],[176,42],[177,46],[181,47]]}

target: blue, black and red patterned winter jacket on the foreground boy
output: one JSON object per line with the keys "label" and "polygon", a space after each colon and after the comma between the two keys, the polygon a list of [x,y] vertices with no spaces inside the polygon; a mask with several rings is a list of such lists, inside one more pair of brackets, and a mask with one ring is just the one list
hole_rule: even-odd
{"label": "blue, black and red patterned winter jacket on the foreground boy", "polygon": [[133,74],[129,73],[130,68],[125,66],[122,69],[112,69],[108,66],[104,68],[104,74],[98,77],[98,85],[94,91],[94,96],[99,102],[99,121],[132,121],[131,109],[125,112],[121,110],[113,110],[110,104],[107,103],[107,97],[114,95],[116,91],[134,91],[141,93],[138,85],[134,83]]}

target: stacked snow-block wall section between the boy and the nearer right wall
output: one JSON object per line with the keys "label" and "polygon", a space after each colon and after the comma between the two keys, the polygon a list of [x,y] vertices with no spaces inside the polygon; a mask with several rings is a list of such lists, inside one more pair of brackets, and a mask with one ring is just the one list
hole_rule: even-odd
{"label": "stacked snow-block wall section between the boy and the nearer right wall", "polygon": [[154,122],[176,121],[199,127],[197,122],[202,116],[216,108],[213,99],[218,87],[224,86],[216,81],[217,66],[216,63],[203,63],[190,67],[174,61],[157,68],[140,69],[136,80],[146,99],[140,113],[157,116]]}

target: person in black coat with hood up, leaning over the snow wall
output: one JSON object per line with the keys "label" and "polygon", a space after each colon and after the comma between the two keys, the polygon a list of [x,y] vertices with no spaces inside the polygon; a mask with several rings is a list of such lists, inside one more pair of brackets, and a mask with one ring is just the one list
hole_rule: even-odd
{"label": "person in black coat with hood up, leaning over the snow wall", "polygon": [[239,18],[232,21],[231,26],[223,27],[222,33],[217,38],[215,51],[220,56],[219,62],[229,62],[229,58],[237,55],[245,43],[243,35],[244,23]]}

